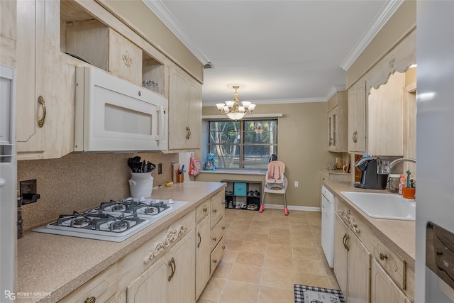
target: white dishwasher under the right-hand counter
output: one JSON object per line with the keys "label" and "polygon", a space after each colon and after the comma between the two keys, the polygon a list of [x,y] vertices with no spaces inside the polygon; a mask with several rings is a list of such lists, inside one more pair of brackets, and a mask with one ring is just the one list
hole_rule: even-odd
{"label": "white dishwasher under the right-hand counter", "polygon": [[324,185],[321,187],[321,247],[330,268],[334,265],[334,194]]}

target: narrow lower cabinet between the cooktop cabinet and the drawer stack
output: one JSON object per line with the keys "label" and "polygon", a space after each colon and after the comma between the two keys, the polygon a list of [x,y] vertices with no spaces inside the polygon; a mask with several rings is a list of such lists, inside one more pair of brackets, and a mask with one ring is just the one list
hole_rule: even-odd
{"label": "narrow lower cabinet between the cooktop cabinet and the drawer stack", "polygon": [[199,299],[211,277],[210,204],[211,200],[208,199],[196,208],[196,299]]}

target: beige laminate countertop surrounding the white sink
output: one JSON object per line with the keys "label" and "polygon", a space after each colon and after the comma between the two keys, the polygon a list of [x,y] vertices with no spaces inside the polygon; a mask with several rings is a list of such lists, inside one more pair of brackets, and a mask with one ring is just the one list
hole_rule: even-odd
{"label": "beige laminate countertop surrounding the white sink", "polygon": [[383,192],[389,193],[387,190],[377,189],[358,189],[353,186],[353,182],[334,182],[325,181],[325,186],[330,189],[333,194],[339,199],[343,199],[348,203],[356,214],[362,216],[365,222],[370,225],[375,235],[380,238],[389,248],[394,250],[406,263],[414,268],[415,258],[415,235],[416,224],[415,221],[404,220],[389,220],[389,219],[375,219],[367,216],[355,204],[345,198],[341,192]]}

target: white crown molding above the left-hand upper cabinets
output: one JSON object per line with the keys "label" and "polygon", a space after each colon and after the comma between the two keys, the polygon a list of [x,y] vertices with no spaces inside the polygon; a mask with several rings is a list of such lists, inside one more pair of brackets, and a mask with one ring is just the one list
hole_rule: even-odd
{"label": "white crown molding above the left-hand upper cabinets", "polygon": [[210,62],[209,57],[201,50],[195,43],[192,42],[191,38],[184,30],[181,23],[177,21],[177,18],[167,9],[167,6],[161,0],[142,0],[143,3],[153,11],[157,18],[170,29],[170,31],[177,36],[177,38],[186,46],[196,58],[202,62],[203,65]]}

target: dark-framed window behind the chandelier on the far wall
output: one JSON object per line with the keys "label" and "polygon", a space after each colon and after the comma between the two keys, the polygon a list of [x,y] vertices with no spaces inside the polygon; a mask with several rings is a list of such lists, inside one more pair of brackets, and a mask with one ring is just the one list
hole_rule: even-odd
{"label": "dark-framed window behind the chandelier on the far wall", "polygon": [[218,170],[267,170],[277,155],[277,119],[209,121],[208,152]]}

